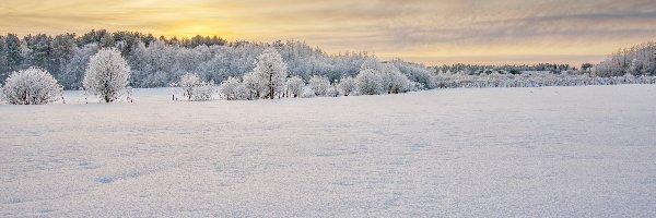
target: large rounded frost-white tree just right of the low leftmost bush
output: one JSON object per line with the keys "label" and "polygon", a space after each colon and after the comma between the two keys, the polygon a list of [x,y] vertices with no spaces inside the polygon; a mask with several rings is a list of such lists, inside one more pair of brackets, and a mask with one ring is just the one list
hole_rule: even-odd
{"label": "large rounded frost-white tree just right of the low leftmost bush", "polygon": [[116,48],[103,48],[91,57],[84,74],[84,89],[112,102],[128,85],[130,66]]}

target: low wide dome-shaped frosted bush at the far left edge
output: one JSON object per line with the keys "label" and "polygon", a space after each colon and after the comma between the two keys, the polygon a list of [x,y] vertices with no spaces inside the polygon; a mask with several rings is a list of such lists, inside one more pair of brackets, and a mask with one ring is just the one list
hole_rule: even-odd
{"label": "low wide dome-shaped frosted bush at the far left edge", "polygon": [[47,71],[30,68],[13,72],[2,86],[2,99],[14,105],[44,105],[59,99],[63,88]]}

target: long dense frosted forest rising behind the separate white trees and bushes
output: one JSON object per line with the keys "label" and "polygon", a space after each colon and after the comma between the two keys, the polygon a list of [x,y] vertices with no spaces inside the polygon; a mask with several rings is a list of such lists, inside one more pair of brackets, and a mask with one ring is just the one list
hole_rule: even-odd
{"label": "long dense frosted forest rising behind the separate white trees and bushes", "polygon": [[0,36],[0,83],[13,71],[38,66],[47,70],[66,89],[82,87],[89,58],[102,48],[116,48],[128,61],[132,87],[165,87],[187,72],[216,83],[241,77],[251,71],[255,59],[273,47],[289,66],[290,75],[308,82],[312,75],[330,81],[354,76],[360,65],[373,60],[372,53],[342,52],[328,55],[303,41],[227,43],[221,37],[155,37],[138,32],[91,31],[81,36],[45,34],[19,37]]}

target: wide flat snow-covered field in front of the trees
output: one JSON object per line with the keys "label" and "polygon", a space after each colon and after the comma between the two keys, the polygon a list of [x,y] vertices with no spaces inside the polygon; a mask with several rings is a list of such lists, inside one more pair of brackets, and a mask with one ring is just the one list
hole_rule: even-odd
{"label": "wide flat snow-covered field in front of the trees", "polygon": [[656,217],[655,85],[134,95],[1,105],[0,217]]}

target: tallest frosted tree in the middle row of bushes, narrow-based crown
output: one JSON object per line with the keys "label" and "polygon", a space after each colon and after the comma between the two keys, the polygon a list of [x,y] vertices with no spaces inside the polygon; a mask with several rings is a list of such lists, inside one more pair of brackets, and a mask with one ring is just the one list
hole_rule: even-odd
{"label": "tallest frosted tree in the middle row of bushes, narrow-based crown", "polygon": [[274,48],[262,51],[257,58],[253,72],[267,87],[265,98],[273,99],[282,94],[288,76],[286,64]]}

